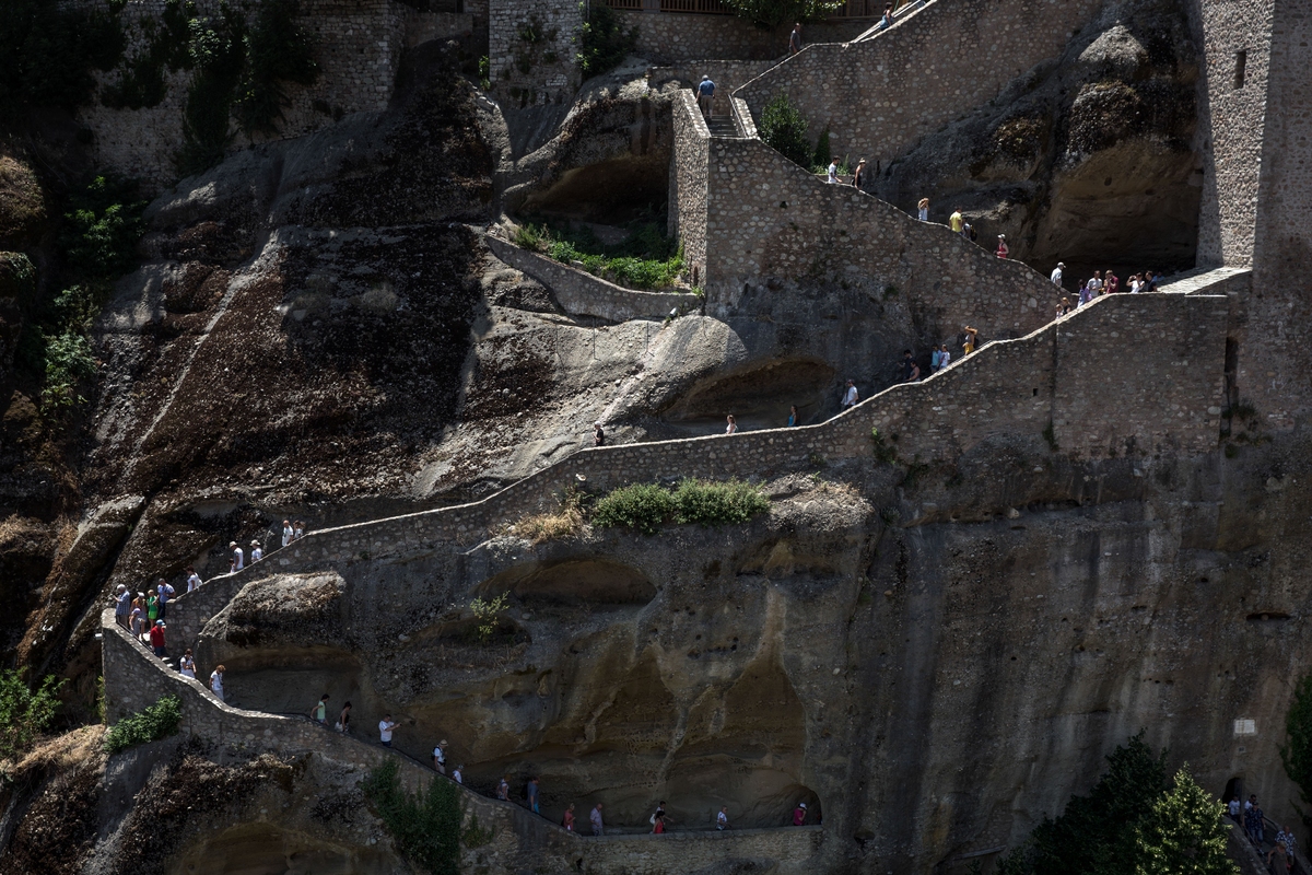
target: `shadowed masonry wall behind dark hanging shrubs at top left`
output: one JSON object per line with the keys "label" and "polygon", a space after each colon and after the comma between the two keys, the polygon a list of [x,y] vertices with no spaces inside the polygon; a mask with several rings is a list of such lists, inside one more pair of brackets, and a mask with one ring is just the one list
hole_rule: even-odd
{"label": "shadowed masonry wall behind dark hanging shrubs at top left", "polygon": [[[108,10],[106,0],[85,5]],[[216,16],[218,0],[198,0],[201,16]],[[122,25],[127,39],[125,59],[143,51],[147,22],[157,22],[164,0],[127,0]],[[253,20],[257,7],[248,10]],[[468,16],[419,13],[395,0],[302,0],[299,22],[314,35],[319,80],[310,87],[285,84],[289,106],[283,109],[277,136],[300,136],[332,125],[342,114],[377,112],[391,100],[400,55],[409,42],[453,35],[468,29]],[[449,33],[450,31],[450,33]],[[97,73],[100,87],[114,87],[118,70]],[[174,155],[182,142],[182,112],[192,80],[189,71],[168,73],[164,100],[146,109],[110,109],[94,104],[77,112],[77,121],[91,129],[98,164],[143,181],[156,193],[177,178]],[[236,125],[232,125],[236,130]],[[232,148],[266,142],[268,136],[237,134]]]}

